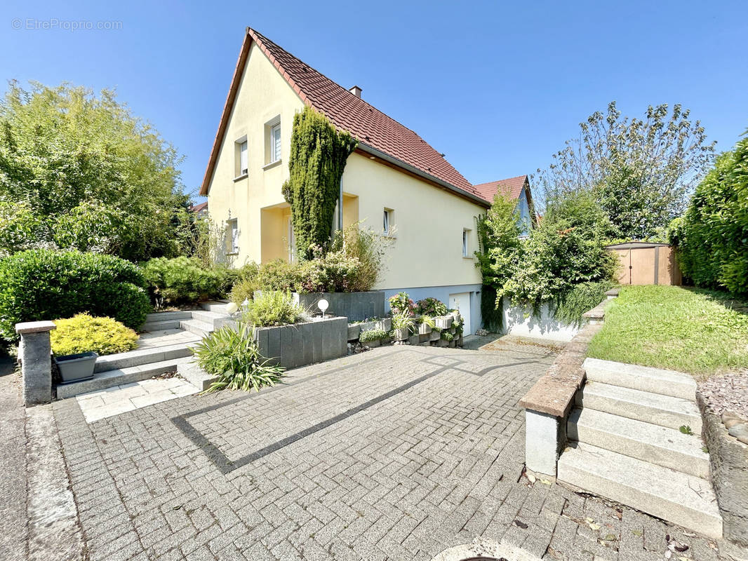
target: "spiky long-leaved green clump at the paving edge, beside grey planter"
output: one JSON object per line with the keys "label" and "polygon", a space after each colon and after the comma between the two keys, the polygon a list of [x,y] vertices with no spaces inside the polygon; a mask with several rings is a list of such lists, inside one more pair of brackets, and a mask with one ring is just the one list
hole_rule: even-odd
{"label": "spiky long-leaved green clump at the paving edge, beside grey planter", "polygon": [[278,384],[285,370],[260,355],[253,329],[244,322],[236,328],[226,325],[214,331],[194,346],[193,354],[200,368],[218,376],[203,393],[224,389],[260,391]]}

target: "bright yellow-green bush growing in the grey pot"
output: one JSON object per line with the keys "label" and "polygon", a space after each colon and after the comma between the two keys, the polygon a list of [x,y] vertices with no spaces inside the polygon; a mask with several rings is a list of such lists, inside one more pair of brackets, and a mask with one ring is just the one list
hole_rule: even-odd
{"label": "bright yellow-green bush growing in the grey pot", "polygon": [[132,351],[138,346],[138,334],[108,317],[79,313],[70,319],[56,319],[57,329],[50,333],[55,355],[97,352],[111,355]]}

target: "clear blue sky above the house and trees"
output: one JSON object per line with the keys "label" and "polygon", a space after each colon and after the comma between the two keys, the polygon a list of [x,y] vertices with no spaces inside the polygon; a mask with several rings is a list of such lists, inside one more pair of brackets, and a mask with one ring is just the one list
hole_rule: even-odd
{"label": "clear blue sky above the house and trees", "polygon": [[473,183],[545,167],[613,99],[636,116],[679,102],[719,150],[748,128],[745,1],[12,0],[0,7],[0,87],[116,88],[184,154],[196,192],[247,25],[360,85]]}

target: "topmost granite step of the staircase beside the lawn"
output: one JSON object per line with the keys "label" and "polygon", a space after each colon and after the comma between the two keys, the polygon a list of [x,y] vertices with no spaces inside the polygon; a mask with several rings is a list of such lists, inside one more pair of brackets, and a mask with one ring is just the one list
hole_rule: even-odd
{"label": "topmost granite step of the staircase beside the lawn", "polygon": [[582,367],[586,378],[591,381],[696,401],[696,380],[675,370],[640,367],[599,358],[586,358]]}

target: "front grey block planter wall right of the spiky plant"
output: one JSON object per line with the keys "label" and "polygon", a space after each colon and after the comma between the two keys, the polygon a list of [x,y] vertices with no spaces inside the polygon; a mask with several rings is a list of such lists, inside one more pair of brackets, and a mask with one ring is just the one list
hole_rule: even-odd
{"label": "front grey block planter wall right of the spiky plant", "polygon": [[285,368],[329,361],[348,354],[348,320],[344,317],[256,328],[260,355]]}

